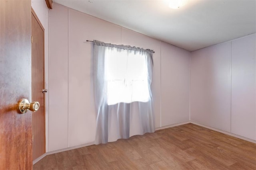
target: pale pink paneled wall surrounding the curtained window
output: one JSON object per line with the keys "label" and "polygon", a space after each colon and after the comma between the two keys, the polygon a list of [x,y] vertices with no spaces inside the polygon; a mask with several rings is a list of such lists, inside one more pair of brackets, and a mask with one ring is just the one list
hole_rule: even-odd
{"label": "pale pink paneled wall surrounding the curtained window", "polygon": [[[156,127],[189,120],[188,51],[59,4],[53,5],[54,10],[50,10],[49,16],[48,151],[94,142],[93,46],[86,42],[87,39],[154,49],[152,92]],[[161,59],[166,59],[172,68],[168,65],[161,67]],[[161,72],[165,80],[176,77],[172,86],[176,91],[171,93],[171,97],[161,98],[161,91],[170,89],[169,86],[161,86]],[[168,105],[161,104],[176,102],[177,99],[180,106],[171,110]]]}

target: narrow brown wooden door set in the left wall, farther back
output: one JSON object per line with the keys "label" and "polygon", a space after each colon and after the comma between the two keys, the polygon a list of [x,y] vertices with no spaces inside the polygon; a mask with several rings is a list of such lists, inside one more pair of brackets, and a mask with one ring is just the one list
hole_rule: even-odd
{"label": "narrow brown wooden door set in the left wall, farther back", "polygon": [[32,113],[33,160],[45,153],[44,27],[32,9],[32,101],[40,103]]}

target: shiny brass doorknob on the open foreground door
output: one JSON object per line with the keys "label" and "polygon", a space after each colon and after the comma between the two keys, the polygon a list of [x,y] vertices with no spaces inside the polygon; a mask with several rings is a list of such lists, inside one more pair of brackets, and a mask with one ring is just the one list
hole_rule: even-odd
{"label": "shiny brass doorknob on the open foreground door", "polygon": [[19,111],[20,113],[26,113],[28,111],[28,109],[30,111],[38,111],[40,107],[39,102],[31,102],[29,103],[27,99],[22,99],[19,102]]}

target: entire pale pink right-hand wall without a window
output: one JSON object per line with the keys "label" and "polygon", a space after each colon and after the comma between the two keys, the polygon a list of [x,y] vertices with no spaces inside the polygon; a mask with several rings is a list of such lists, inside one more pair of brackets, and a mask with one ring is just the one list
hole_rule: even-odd
{"label": "entire pale pink right-hand wall without a window", "polygon": [[190,120],[256,140],[256,34],[191,52]]}

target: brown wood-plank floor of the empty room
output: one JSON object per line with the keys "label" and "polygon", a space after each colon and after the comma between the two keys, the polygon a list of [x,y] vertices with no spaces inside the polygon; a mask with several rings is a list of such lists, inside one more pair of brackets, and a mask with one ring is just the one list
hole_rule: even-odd
{"label": "brown wood-plank floor of the empty room", "polygon": [[256,170],[256,144],[194,124],[50,154],[34,170]]}

